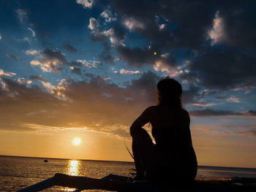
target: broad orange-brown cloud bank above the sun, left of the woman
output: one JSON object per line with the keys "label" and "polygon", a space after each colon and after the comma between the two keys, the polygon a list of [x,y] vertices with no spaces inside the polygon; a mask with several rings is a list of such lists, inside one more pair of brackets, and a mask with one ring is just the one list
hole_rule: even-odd
{"label": "broad orange-brown cloud bank above the sun, left of the woman", "polygon": [[[18,81],[3,79],[8,88],[8,91],[0,91],[0,116],[4,118],[5,128],[12,123],[17,126],[16,130],[20,130],[24,123],[34,123],[66,128],[87,127],[86,130],[127,136],[133,120],[155,103],[159,77],[147,72],[125,87],[118,87],[100,76],[80,82],[61,80],[58,85],[47,84],[42,76],[30,77],[30,80],[42,82],[44,88],[37,85],[27,87]],[[11,93],[14,94],[12,98]],[[12,111],[7,110],[10,106],[13,106]]]}

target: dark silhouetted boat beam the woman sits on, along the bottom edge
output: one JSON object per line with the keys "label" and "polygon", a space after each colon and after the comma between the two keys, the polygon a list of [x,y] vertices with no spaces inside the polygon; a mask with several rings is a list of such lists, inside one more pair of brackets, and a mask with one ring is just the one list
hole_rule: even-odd
{"label": "dark silhouetted boat beam the woman sits on, along the bottom edge", "polygon": [[47,180],[36,183],[18,192],[42,191],[53,185],[77,188],[76,192],[88,189],[102,189],[107,191],[196,191],[196,192],[227,192],[227,191],[256,191],[256,178],[231,177],[231,178],[203,178],[196,179],[193,183],[162,182],[151,183],[148,181],[133,181],[131,177],[109,174],[102,179],[55,174]]}

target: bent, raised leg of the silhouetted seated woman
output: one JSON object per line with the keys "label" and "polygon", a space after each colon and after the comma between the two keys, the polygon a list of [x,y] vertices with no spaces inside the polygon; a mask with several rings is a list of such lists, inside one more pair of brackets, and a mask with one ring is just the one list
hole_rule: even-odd
{"label": "bent, raised leg of the silhouetted seated woman", "polygon": [[137,178],[139,179],[144,177],[148,166],[151,166],[153,146],[152,139],[145,129],[140,128],[135,131],[132,136],[132,153],[135,158]]}

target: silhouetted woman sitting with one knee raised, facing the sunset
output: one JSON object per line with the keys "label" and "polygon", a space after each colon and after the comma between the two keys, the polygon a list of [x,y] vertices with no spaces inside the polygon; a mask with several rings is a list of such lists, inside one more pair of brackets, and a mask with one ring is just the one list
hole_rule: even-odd
{"label": "silhouetted woman sitting with one knee raised, facing the sunset", "polygon": [[[148,107],[130,127],[135,179],[192,181],[197,174],[197,158],[189,113],[181,104],[181,84],[166,78],[157,83],[157,90],[157,105]],[[151,123],[155,145],[142,128],[146,123]]]}

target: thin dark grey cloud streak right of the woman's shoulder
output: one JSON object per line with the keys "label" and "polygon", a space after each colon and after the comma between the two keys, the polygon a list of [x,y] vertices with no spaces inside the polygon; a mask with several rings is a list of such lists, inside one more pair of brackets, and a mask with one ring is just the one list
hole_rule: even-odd
{"label": "thin dark grey cloud streak right of the woman's shoulder", "polygon": [[195,117],[244,116],[244,117],[256,118],[256,112],[253,110],[247,110],[245,112],[233,112],[233,111],[227,111],[227,110],[211,110],[211,109],[206,108],[205,110],[190,111],[189,114],[192,116],[195,116]]}

